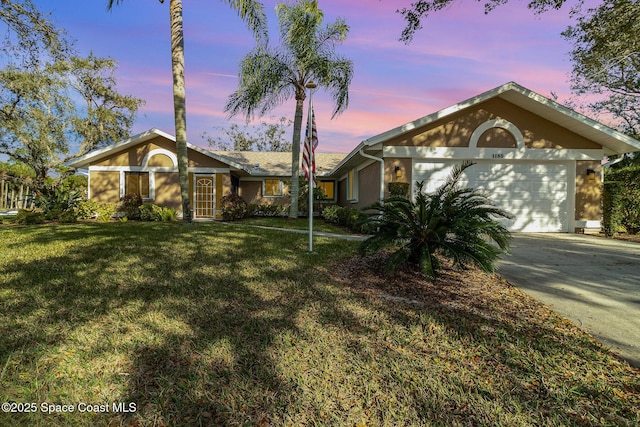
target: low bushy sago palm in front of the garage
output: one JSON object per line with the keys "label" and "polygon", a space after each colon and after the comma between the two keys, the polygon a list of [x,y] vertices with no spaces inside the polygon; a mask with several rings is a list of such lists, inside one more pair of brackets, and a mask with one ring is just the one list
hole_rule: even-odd
{"label": "low bushy sago palm in front of the garage", "polygon": [[496,219],[513,216],[495,207],[479,190],[460,185],[463,172],[473,164],[464,162],[454,167],[447,181],[432,194],[425,194],[424,183],[419,182],[415,201],[392,196],[374,204],[365,223],[376,231],[362,242],[360,254],[392,247],[395,251],[387,259],[388,272],[409,263],[435,278],[441,267],[438,254],[452,259],[457,267],[471,263],[492,272],[498,256],[508,251],[511,239]]}

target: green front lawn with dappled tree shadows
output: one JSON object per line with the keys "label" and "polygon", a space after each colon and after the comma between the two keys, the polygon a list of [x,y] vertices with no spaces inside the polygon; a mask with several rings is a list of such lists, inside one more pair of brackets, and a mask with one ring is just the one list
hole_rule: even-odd
{"label": "green front lawn with dappled tree shadows", "polygon": [[336,279],[356,245],[317,237],[309,255],[304,234],[218,223],[0,226],[0,402],[36,409],[0,425],[640,424],[638,371],[568,322],[514,290],[380,298]]}

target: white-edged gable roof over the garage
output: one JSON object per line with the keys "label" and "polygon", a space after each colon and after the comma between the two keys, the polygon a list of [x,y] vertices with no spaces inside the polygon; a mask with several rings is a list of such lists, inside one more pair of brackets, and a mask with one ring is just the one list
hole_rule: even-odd
{"label": "white-edged gable roof over the garage", "polygon": [[515,82],[509,82],[435,113],[420,117],[412,122],[405,123],[404,125],[365,139],[344,158],[332,173],[342,168],[356,156],[361,149],[375,149],[379,144],[392,138],[426,126],[492,98],[503,99],[586,139],[596,142],[604,148],[604,154],[606,156],[640,151],[640,141],[520,86]]}

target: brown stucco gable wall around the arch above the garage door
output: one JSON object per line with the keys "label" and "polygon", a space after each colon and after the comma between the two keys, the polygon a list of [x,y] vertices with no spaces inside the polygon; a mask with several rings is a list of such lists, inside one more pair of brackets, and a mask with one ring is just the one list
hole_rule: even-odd
{"label": "brown stucco gable wall around the arch above the garage door", "polygon": [[[600,145],[562,126],[499,98],[490,99],[407,132],[385,142],[384,145],[468,147],[473,131],[482,123],[495,119],[504,119],[513,123],[522,132],[526,148],[601,148]],[[490,129],[481,136],[478,146],[495,148],[514,146],[515,141],[512,139],[508,132]]]}

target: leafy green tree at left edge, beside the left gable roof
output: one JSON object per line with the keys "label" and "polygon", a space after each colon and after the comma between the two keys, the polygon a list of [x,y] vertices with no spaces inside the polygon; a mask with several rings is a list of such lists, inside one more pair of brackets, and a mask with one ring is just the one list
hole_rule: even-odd
{"label": "leafy green tree at left edge, beside the left gable roof", "polygon": [[0,153],[29,165],[36,188],[69,159],[128,135],[142,103],[116,91],[112,59],[49,60],[0,70]]}

